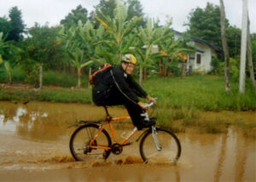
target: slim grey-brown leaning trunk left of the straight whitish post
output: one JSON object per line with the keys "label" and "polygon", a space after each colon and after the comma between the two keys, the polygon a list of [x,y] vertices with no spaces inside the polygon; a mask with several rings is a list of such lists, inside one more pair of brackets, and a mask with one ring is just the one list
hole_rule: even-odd
{"label": "slim grey-brown leaning trunk left of the straight whitish post", "polygon": [[221,39],[222,45],[224,48],[224,58],[225,58],[225,90],[226,92],[230,92],[230,53],[226,40],[226,29],[225,29],[225,9],[223,0],[219,0],[220,9],[221,9]]}

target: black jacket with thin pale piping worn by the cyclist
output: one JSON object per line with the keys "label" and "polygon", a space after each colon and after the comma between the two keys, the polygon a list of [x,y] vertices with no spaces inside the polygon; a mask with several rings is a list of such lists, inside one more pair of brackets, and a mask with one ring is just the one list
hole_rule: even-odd
{"label": "black jacket with thin pale piping worn by the cyclist", "polygon": [[133,80],[131,75],[125,73],[122,65],[114,66],[110,71],[114,90],[118,90],[126,99],[137,103],[137,97],[146,98],[148,95],[141,86]]}

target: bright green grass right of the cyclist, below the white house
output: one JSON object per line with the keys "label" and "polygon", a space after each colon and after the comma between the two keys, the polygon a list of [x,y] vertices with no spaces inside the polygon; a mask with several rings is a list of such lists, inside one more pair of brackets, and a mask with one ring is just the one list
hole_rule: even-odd
{"label": "bright green grass right of the cyclist, below the white house", "polygon": [[143,87],[148,94],[158,97],[160,105],[164,107],[247,111],[255,110],[256,106],[253,88],[247,86],[246,94],[239,94],[238,83],[231,82],[231,92],[227,94],[223,77],[156,78],[144,82]]}

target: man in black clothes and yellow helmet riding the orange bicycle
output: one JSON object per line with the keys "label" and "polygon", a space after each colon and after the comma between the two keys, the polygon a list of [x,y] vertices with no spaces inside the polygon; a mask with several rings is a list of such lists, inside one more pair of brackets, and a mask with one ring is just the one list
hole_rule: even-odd
{"label": "man in black clothes and yellow helmet riding the orange bicycle", "polygon": [[[101,86],[93,88],[93,101],[96,105],[125,105],[133,124],[137,129],[154,125],[154,118],[145,121],[142,114],[143,106],[147,105],[138,100],[138,97],[146,98],[148,102],[155,102],[140,85],[131,77],[131,73],[137,64],[137,59],[132,54],[122,56],[121,64],[114,66],[108,77],[105,77],[104,89]],[[102,91],[104,90],[104,91]]]}

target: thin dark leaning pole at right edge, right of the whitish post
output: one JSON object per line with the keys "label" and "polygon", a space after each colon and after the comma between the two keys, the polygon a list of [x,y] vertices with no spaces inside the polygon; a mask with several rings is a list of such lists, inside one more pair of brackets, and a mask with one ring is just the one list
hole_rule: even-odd
{"label": "thin dark leaning pole at right edge, right of the whitish post", "polygon": [[247,56],[248,56],[248,66],[250,71],[250,79],[253,85],[253,88],[255,88],[255,78],[253,73],[253,57],[252,57],[252,48],[251,48],[251,37],[250,37],[250,20],[249,17],[248,24],[247,24]]}

